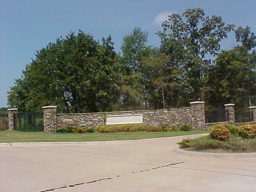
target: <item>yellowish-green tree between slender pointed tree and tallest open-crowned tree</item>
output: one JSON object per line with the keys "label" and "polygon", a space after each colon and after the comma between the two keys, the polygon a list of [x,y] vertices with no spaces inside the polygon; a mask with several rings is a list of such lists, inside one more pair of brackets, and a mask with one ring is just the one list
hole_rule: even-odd
{"label": "yellowish-green tree between slender pointed tree and tallest open-crowned tree", "polygon": [[[144,66],[148,72],[146,88],[150,106],[164,109],[173,107],[176,90],[180,89],[180,70],[174,68],[170,57],[162,53],[146,58]],[[162,101],[162,105],[159,101]]]}

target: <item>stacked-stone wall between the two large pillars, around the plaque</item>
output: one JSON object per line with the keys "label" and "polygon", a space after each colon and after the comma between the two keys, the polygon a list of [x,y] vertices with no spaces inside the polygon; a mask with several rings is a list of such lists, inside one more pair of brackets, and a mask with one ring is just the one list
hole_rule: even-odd
{"label": "stacked-stone wall between the two large pillars, around the plaque", "polygon": [[191,107],[160,109],[160,110],[140,110],[107,113],[79,113],[79,114],[57,114],[58,128],[67,126],[82,126],[84,128],[95,128],[104,125],[106,115],[128,115],[142,114],[143,123],[148,125],[166,125],[180,127],[183,124],[192,126]]}

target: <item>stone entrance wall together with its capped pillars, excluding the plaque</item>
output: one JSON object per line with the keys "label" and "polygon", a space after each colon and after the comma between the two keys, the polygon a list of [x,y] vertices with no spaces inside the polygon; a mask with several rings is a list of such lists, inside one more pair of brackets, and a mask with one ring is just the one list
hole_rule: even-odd
{"label": "stone entrance wall together with its capped pillars, excluding the plaque", "polygon": [[[224,106],[227,119],[222,123],[235,123],[234,104],[225,104]],[[166,125],[180,128],[183,124],[188,124],[193,129],[209,129],[212,125],[220,123],[205,123],[203,101],[190,102],[190,107],[185,108],[105,113],[56,114],[56,106],[45,106],[43,109],[45,132],[56,132],[57,128],[67,128],[68,126],[96,128],[105,124],[106,116],[130,114],[142,114],[143,123],[154,126]],[[256,122],[256,106],[249,107],[249,109],[250,112],[253,112],[253,121],[248,123],[254,124]],[[10,113],[9,116],[11,117],[12,114]],[[9,120],[9,127],[11,124],[12,122]]]}

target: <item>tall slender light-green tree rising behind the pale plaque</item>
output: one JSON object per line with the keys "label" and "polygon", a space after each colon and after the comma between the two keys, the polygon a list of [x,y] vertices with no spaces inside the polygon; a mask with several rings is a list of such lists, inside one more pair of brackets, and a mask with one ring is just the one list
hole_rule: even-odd
{"label": "tall slender light-green tree rising behind the pale plaque", "polygon": [[147,46],[148,33],[140,28],[134,28],[132,32],[123,38],[122,61],[125,66],[122,78],[121,92],[125,109],[129,106],[133,109],[147,109],[148,93],[146,92],[146,71],[142,60],[154,52],[151,46]]}

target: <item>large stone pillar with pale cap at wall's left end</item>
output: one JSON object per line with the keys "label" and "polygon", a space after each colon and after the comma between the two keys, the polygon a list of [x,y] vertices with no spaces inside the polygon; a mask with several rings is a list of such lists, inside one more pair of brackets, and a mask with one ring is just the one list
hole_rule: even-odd
{"label": "large stone pillar with pale cap at wall's left end", "polygon": [[44,106],[44,132],[51,133],[57,130],[57,106]]}

